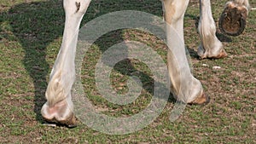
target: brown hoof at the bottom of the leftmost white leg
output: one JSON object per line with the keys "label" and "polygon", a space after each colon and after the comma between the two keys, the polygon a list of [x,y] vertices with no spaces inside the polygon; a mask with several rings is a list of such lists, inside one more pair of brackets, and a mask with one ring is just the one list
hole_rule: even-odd
{"label": "brown hoof at the bottom of the leftmost white leg", "polygon": [[44,120],[46,122],[48,122],[49,124],[64,125],[64,126],[67,126],[68,128],[74,128],[78,125],[78,120],[74,116],[74,114],[72,114],[69,118],[67,118],[65,120],[57,120],[56,118],[52,118],[52,119],[44,118]]}

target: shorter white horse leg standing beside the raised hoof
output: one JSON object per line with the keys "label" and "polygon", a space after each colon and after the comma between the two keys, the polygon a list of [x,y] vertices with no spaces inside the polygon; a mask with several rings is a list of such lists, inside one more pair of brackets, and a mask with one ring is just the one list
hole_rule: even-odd
{"label": "shorter white horse leg standing beside the raised hoof", "polygon": [[216,26],[212,18],[210,0],[200,0],[200,20],[198,31],[201,37],[201,45],[198,48],[198,55],[201,59],[223,58],[227,56],[223,44],[216,37]]}

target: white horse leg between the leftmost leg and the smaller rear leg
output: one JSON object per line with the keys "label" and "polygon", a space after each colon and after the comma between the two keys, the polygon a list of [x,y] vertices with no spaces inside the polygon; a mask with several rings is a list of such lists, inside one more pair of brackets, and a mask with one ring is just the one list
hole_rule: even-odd
{"label": "white horse leg between the leftmost leg and the smaller rear leg", "polygon": [[164,15],[167,22],[168,71],[172,81],[173,93],[178,101],[202,104],[208,101],[203,94],[201,82],[190,72],[185,54],[183,38],[183,17],[189,0],[163,0]]}

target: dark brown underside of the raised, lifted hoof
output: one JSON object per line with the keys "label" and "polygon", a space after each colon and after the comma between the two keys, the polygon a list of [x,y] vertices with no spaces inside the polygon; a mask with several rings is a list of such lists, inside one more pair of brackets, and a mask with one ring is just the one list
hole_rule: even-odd
{"label": "dark brown underside of the raised, lifted hoof", "polygon": [[221,32],[229,36],[239,36],[245,29],[247,23],[247,9],[230,3],[221,14],[218,26]]}

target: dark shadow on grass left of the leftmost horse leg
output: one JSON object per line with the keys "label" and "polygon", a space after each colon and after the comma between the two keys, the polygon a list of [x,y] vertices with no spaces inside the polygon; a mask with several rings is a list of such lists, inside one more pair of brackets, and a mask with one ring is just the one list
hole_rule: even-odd
{"label": "dark shadow on grass left of the leftmost horse leg", "polygon": [[[61,2],[49,1],[21,3],[1,14],[3,20],[9,22],[11,31],[26,54],[22,63],[33,80],[34,112],[39,122],[43,122],[40,110],[46,101],[44,93],[50,71],[46,50],[49,43],[61,37],[63,12]],[[6,33],[3,37],[9,39],[9,34]]]}

